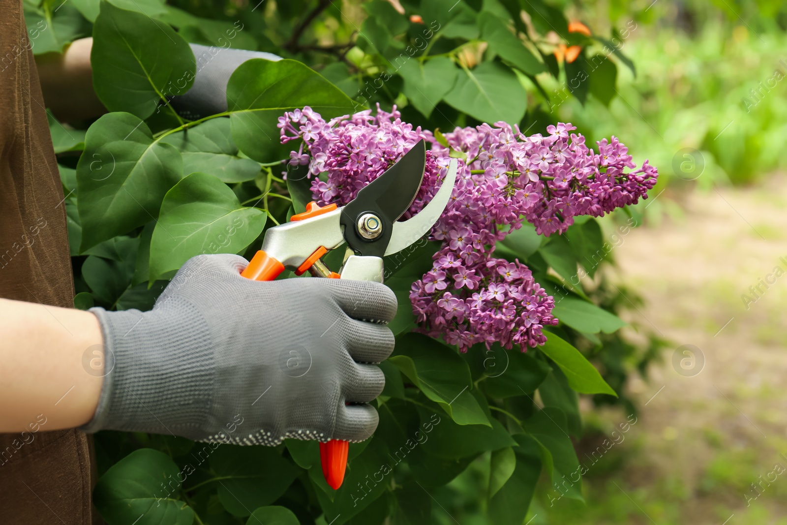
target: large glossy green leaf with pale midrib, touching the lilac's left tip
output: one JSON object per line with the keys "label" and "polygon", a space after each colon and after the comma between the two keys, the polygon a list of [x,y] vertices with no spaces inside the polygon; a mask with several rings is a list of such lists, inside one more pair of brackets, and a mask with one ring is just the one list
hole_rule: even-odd
{"label": "large glossy green leaf with pale midrib, touching the lilac's left tip", "polygon": [[309,105],[328,120],[353,113],[357,103],[317,72],[294,60],[253,58],[240,65],[227,83],[232,138],[255,161],[287,157],[291,146],[279,142],[279,116]]}

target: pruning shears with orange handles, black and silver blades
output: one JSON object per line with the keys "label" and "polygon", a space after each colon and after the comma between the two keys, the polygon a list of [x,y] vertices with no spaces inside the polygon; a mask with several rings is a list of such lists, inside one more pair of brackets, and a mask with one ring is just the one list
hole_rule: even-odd
{"label": "pruning shears with orange handles, black and silver blades", "polygon": [[[295,275],[308,271],[316,277],[382,283],[382,257],[404,250],[426,235],[453,191],[456,159],[451,159],[434,198],[415,216],[398,221],[416,198],[425,169],[426,145],[422,139],[347,205],[309,202],[304,213],[266,231],[262,250],[241,275],[272,281],[284,268],[294,268]],[[345,242],[344,264],[338,273],[331,272],[321,258]],[[320,442],[323,475],[334,489],[344,480],[348,447],[348,442],[336,439]]]}

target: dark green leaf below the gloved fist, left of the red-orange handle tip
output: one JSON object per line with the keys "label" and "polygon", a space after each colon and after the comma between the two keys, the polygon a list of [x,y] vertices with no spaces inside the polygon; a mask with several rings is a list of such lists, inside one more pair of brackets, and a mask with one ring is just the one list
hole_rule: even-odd
{"label": "dark green leaf below the gloved fist, left of the red-orange handle tip", "polygon": [[220,479],[219,500],[233,516],[249,516],[252,508],[271,505],[300,473],[279,451],[267,446],[220,445],[210,456]]}

